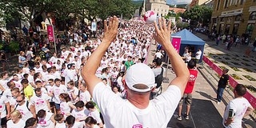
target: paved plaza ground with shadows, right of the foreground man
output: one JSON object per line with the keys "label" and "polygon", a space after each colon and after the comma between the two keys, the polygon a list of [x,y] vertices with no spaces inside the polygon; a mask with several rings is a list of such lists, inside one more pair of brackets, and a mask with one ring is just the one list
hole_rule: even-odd
{"label": "paved plaza ground with shadows, right of the foreground man", "polygon": [[[250,75],[252,78],[256,78],[256,68],[254,67],[253,60],[256,53],[252,52],[250,53],[250,57],[246,58],[245,50],[248,49],[248,46],[240,46],[240,50],[238,48],[233,47],[231,50],[225,49],[225,44],[220,44],[219,46],[215,45],[215,42],[209,41],[207,36],[204,34],[196,34],[199,38],[202,38],[206,41],[204,55],[210,56],[210,59],[213,59],[212,61],[218,61],[216,63],[218,66],[225,66],[226,68],[230,69],[229,74],[237,74],[242,80],[238,80],[239,83],[245,84],[245,85],[252,85],[255,86],[254,81],[250,81],[247,78],[245,78],[243,75]],[[251,47],[250,47],[251,48]],[[153,60],[153,54],[155,53],[156,46],[152,45],[150,46],[150,54],[148,56],[147,62],[152,62]],[[230,54],[230,56],[222,55],[222,54]],[[216,58],[214,58],[216,56]],[[229,60],[227,59],[230,58]],[[256,57],[256,56],[255,56]],[[247,62],[248,60],[249,62]],[[224,62],[224,63],[222,63]],[[227,62],[227,63],[225,63]],[[235,65],[231,62],[237,62],[241,66]],[[251,66],[245,66],[243,63],[247,63]],[[166,66],[166,64],[164,64]],[[232,67],[237,67],[238,70],[241,71],[234,71]],[[164,77],[170,79],[170,81],[175,77],[175,74],[171,72],[171,68],[169,65],[169,70],[167,70],[167,74],[164,74]],[[252,72],[248,72],[249,69]],[[216,98],[216,90],[217,90],[217,84],[218,84],[218,75],[214,72],[214,70],[210,69],[207,64],[203,64],[202,68],[199,68],[198,78],[195,83],[194,87],[194,102],[191,106],[190,111],[190,120],[186,121],[185,118],[182,119],[182,121],[178,121],[176,119],[176,116],[178,114],[178,109],[174,113],[173,118],[171,118],[168,126],[169,127],[177,127],[177,128],[192,128],[192,127],[222,127],[222,116],[225,110],[225,107],[228,102],[230,102],[231,99],[234,98],[234,94],[232,90],[227,89],[224,91],[223,94],[223,102],[220,104],[217,104],[214,98]],[[167,83],[163,83],[164,90],[168,86]],[[184,114],[184,110],[182,109]],[[255,115],[252,115],[252,117],[255,118]],[[246,117],[243,119],[243,127],[256,127],[256,124],[254,122],[254,119],[252,117]]]}

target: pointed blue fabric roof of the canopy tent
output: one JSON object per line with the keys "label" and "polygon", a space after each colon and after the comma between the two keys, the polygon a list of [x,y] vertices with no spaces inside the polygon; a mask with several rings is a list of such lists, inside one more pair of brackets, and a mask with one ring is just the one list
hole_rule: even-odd
{"label": "pointed blue fabric roof of the canopy tent", "polygon": [[192,34],[189,30],[186,30],[186,29],[171,35],[182,37],[182,44],[198,45],[198,46],[205,45],[205,41],[203,41],[201,38],[198,38],[196,35]]}

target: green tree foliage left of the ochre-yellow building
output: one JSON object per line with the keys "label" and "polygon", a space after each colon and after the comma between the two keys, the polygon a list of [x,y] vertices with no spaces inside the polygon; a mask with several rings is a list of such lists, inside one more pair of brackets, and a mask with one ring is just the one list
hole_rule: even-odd
{"label": "green tree foliage left of the ochre-yellow building", "polygon": [[205,6],[194,6],[190,10],[186,10],[182,14],[182,18],[190,19],[196,22],[200,22],[203,25],[208,25],[210,17],[212,14],[212,9]]}

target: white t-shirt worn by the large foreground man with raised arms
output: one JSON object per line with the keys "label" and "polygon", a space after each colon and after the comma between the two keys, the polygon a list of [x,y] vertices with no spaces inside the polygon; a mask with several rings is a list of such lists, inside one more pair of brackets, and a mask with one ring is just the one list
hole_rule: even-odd
{"label": "white t-shirt worn by the large foreground man with raised arms", "polygon": [[157,98],[150,100],[149,106],[143,110],[114,94],[102,82],[94,87],[93,98],[102,112],[106,127],[166,128],[181,99],[181,90],[178,86],[169,86]]}

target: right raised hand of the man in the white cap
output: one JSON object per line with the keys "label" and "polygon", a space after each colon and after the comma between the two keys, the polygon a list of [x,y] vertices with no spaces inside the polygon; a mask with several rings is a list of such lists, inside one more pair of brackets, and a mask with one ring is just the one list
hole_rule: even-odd
{"label": "right raised hand of the man in the white cap", "polygon": [[168,22],[166,26],[166,21],[164,18],[158,18],[159,28],[157,22],[154,22],[155,34],[154,39],[156,42],[160,43],[162,46],[170,45],[170,26],[171,22]]}

